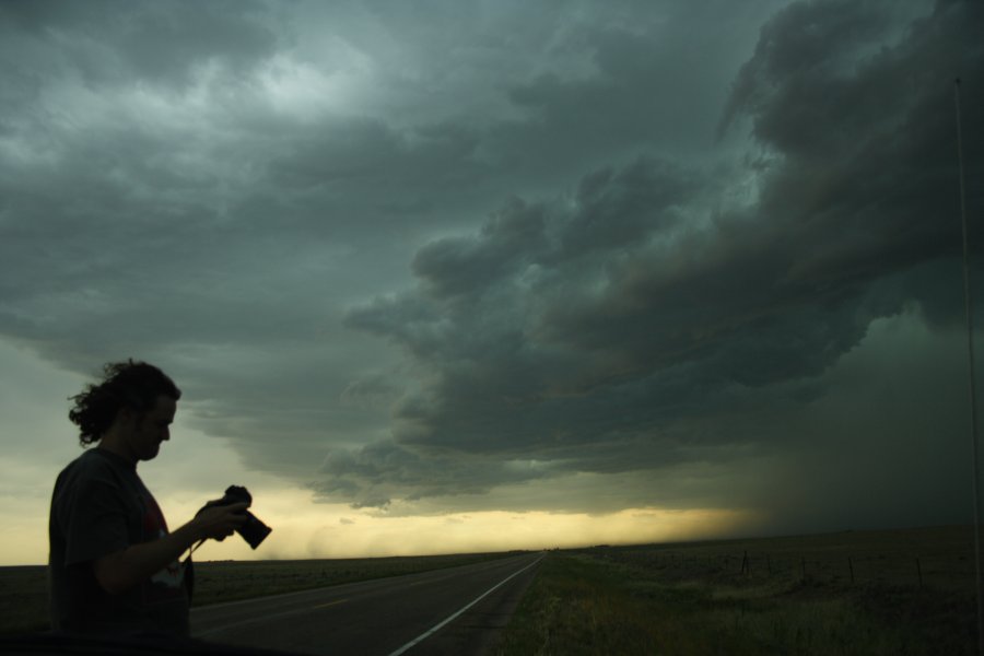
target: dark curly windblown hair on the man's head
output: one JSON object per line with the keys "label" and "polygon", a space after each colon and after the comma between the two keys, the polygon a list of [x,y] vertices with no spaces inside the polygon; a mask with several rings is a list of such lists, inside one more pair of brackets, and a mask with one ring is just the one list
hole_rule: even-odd
{"label": "dark curly windblown hair on the man's head", "polygon": [[86,385],[81,394],[69,397],[74,401],[69,420],[79,426],[79,442],[85,446],[103,437],[121,408],[149,412],[160,396],[178,400],[181,390],[152,364],[110,362],[103,366],[102,383]]}

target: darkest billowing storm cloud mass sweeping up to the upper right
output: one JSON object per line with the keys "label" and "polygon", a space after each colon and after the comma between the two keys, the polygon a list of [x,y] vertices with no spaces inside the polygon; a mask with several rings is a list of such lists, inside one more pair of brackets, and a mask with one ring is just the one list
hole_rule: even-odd
{"label": "darkest billowing storm cloud mass sweeping up to the upper right", "polygon": [[[693,443],[726,460],[784,437],[708,420],[822,397],[815,382],[907,304],[932,325],[958,319],[951,83],[984,75],[984,12],[892,7],[796,3],[762,28],[724,106],[724,129],[748,124],[759,144],[745,207],[704,213],[696,189],[718,180],[641,160],[422,248],[415,290],[348,319],[427,373],[396,408],[397,444],[552,465],[530,478],[655,470]],[[514,98],[559,90],[544,79]]]}

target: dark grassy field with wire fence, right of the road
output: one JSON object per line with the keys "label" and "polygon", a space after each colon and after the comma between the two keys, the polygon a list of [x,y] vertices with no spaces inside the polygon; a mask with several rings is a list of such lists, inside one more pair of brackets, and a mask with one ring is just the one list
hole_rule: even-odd
{"label": "dark grassy field with wire fence, right of the road", "polygon": [[960,527],[552,552],[497,653],[974,654],[973,581]]}

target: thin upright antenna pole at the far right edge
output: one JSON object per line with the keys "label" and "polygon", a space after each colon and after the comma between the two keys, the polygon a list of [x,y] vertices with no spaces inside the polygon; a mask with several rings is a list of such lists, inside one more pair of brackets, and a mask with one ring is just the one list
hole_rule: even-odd
{"label": "thin upright antenna pole at the far right edge", "polygon": [[967,239],[967,201],[963,190],[963,134],[960,127],[960,78],[953,82],[953,97],[957,103],[957,156],[960,161],[960,218],[963,224],[963,305],[967,312],[967,352],[970,359],[971,393],[971,453],[974,467],[974,562],[977,570],[977,653],[984,656],[984,581],[981,578],[981,512],[979,508],[981,477],[977,464],[977,390],[974,380],[974,326],[970,292],[970,258]]}

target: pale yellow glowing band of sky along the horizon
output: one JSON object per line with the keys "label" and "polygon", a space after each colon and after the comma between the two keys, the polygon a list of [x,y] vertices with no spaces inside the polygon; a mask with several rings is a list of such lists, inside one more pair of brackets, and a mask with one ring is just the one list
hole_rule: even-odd
{"label": "pale yellow glowing band of sky along the horizon", "polygon": [[[726,537],[754,524],[752,513],[725,509],[629,508],[617,513],[482,511],[436,516],[388,517],[344,505],[314,503],[303,489],[258,491],[254,511],[273,527],[257,551],[237,536],[207,542],[195,558],[209,560],[303,560],[425,555],[573,548]],[[9,501],[9,500],[4,500]],[[159,499],[176,528],[198,504],[184,495]],[[0,564],[47,560],[47,516],[0,512]],[[47,509],[47,508],[45,508]]]}

